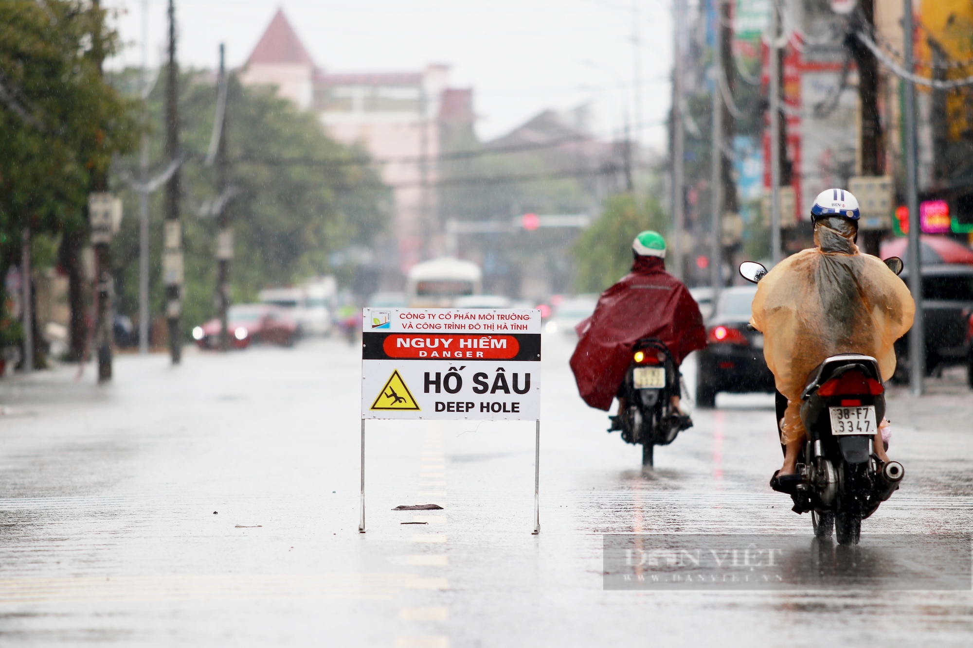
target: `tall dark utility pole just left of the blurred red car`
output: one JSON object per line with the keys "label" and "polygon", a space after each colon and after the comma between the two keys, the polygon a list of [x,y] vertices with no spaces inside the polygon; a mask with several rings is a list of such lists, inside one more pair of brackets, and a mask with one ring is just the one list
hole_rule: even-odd
{"label": "tall dark utility pole just left of the blurred red car", "polygon": [[[176,65],[176,10],[169,0],[169,64],[165,87],[165,153],[169,160],[179,155],[179,68]],[[179,220],[181,172],[172,173],[165,186],[165,254],[162,274],[165,280],[165,318],[169,330],[172,364],[182,360],[182,223]]]}

